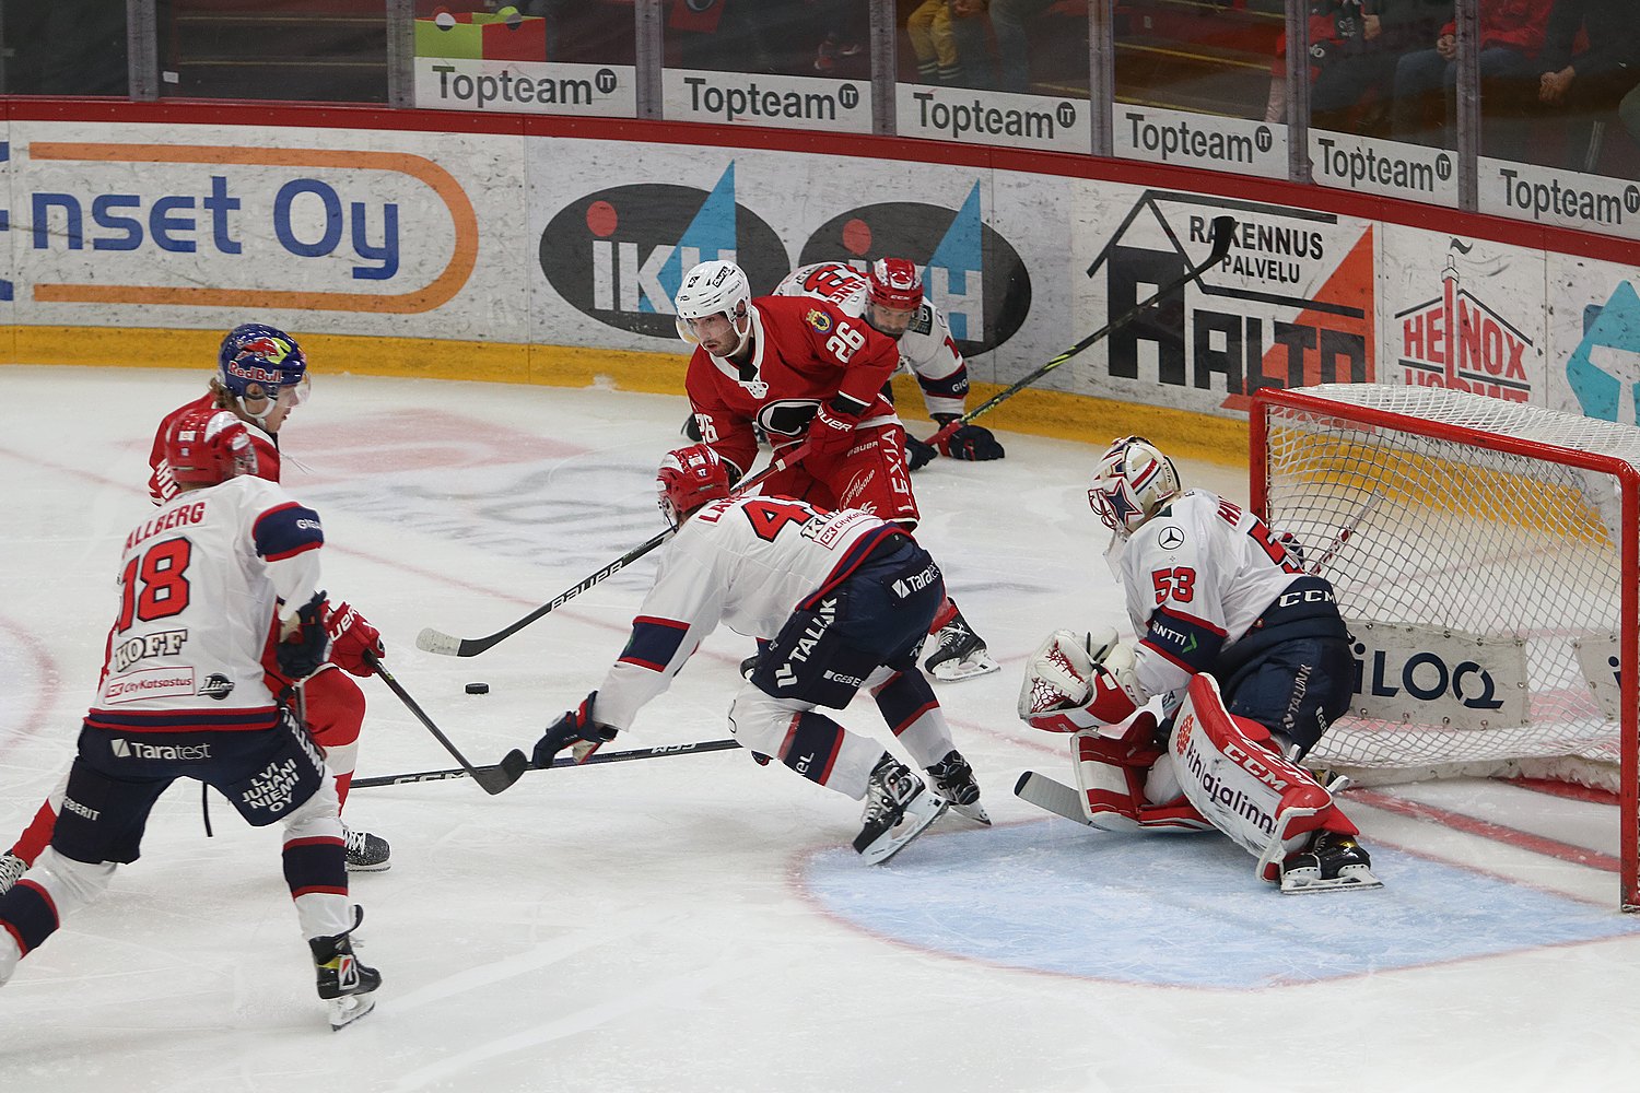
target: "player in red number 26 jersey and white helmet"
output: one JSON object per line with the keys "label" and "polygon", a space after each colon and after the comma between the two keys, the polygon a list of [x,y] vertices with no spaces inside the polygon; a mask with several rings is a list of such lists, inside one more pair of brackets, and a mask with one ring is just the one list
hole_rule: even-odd
{"label": "player in red number 26 jersey and white helmet", "polygon": [[[677,333],[695,346],[684,387],[700,442],[745,475],[758,429],[776,456],[807,441],[802,462],[771,475],[763,492],[822,508],[859,508],[917,526],[905,465],[905,428],[882,395],[899,346],[869,323],[807,297],[751,298],[733,262],[702,262],[677,290]],[[930,633],[925,667],[936,678],[995,672],[997,664],[950,600]]]}

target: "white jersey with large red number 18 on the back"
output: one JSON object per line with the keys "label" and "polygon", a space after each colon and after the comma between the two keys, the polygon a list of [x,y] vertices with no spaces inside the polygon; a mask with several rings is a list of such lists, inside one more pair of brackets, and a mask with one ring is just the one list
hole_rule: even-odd
{"label": "white jersey with large red number 18 on the back", "polygon": [[323,542],[313,510],[254,475],[161,505],[125,541],[118,616],[87,719],[192,710],[198,728],[235,728],[246,711],[271,711],[262,652],[276,601],[294,615],[313,598]]}

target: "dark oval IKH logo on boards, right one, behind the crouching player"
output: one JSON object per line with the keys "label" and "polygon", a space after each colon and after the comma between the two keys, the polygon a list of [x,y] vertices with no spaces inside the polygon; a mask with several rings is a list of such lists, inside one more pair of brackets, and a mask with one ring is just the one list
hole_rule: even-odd
{"label": "dark oval IKH logo on boards, right one, behind the crouching player", "polygon": [[804,243],[799,265],[848,256],[864,272],[879,257],[917,264],[923,293],[945,311],[964,356],[995,349],[1030,315],[1030,270],[981,216],[979,184],[954,213],[940,205],[887,202],[833,216]]}

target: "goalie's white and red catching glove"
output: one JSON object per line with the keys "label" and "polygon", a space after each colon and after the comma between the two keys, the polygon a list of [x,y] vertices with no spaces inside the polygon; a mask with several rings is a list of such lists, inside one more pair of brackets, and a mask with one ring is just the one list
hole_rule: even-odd
{"label": "goalie's white and red catching glove", "polygon": [[1122,724],[1148,701],[1133,677],[1133,649],[1109,626],[1091,634],[1056,629],[1025,665],[1020,719],[1045,732]]}

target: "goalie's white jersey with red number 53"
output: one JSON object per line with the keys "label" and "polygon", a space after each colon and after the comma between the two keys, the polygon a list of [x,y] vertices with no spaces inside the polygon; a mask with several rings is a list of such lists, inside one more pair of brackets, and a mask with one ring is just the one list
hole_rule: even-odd
{"label": "goalie's white jersey with red number 53", "polygon": [[1258,516],[1187,490],[1107,556],[1140,637],[1135,672],[1166,695],[1212,670],[1304,569]]}

